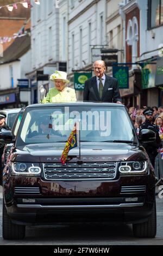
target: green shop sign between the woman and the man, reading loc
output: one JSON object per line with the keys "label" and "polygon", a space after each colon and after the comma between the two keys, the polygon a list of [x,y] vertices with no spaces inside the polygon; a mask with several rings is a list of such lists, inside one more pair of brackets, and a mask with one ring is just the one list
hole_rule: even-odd
{"label": "green shop sign between the woman and the man, reading loc", "polygon": [[74,89],[83,90],[86,80],[92,77],[92,72],[74,73]]}

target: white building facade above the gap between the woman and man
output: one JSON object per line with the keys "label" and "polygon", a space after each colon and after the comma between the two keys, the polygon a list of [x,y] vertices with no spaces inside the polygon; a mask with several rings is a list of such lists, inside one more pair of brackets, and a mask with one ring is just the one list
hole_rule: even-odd
{"label": "white building facade above the gap between the woman and man", "polygon": [[[106,1],[68,1],[68,74],[73,86],[73,71],[92,69],[92,48],[106,44]],[[97,57],[101,59],[101,56]],[[83,91],[76,91],[78,100]]]}

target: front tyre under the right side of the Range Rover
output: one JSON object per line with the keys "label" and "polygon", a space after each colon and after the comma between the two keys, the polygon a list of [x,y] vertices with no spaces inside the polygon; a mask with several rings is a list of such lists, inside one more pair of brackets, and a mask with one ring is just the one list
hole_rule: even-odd
{"label": "front tyre under the right side of the Range Rover", "polygon": [[135,237],[155,237],[156,235],[156,204],[154,201],[152,214],[147,222],[133,224]]}

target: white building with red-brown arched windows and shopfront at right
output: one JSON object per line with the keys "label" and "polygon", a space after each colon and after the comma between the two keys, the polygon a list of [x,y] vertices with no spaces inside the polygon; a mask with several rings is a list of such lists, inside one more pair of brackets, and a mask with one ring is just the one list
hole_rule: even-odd
{"label": "white building with red-brown arched windows and shopfront at right", "polygon": [[[163,66],[163,61],[158,56],[159,45],[163,43],[163,13],[162,1],[155,0],[123,0],[120,3],[120,14],[123,19],[123,45],[125,48],[124,62],[141,62],[132,65],[131,70],[141,72],[140,92],[134,95],[133,105],[158,106],[163,104],[162,90],[156,80],[158,78],[157,66]],[[162,64],[161,64],[162,63]],[[133,83],[130,79],[128,95],[134,93]],[[162,82],[163,83],[163,82]],[[161,86],[161,84],[160,84]],[[132,87],[132,88],[131,88]],[[126,93],[123,92],[123,95]]]}

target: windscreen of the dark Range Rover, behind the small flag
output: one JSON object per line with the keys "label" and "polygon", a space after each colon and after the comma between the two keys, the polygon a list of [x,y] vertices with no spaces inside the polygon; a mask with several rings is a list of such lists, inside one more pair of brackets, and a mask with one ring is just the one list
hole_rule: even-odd
{"label": "windscreen of the dark Range Rover, behind the small flag", "polygon": [[[80,121],[79,121],[80,120]],[[133,126],[124,107],[71,106],[28,108],[23,115],[16,147],[66,142],[80,123],[84,142],[134,141]]]}

